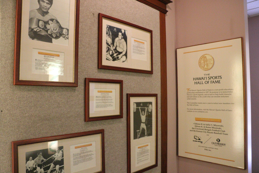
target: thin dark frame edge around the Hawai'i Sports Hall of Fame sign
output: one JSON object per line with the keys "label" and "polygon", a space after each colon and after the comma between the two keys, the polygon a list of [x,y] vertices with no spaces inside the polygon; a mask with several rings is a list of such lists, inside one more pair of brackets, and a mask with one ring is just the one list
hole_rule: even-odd
{"label": "thin dark frame edge around the Hawai'i Sports Hall of Fame sign", "polygon": [[[246,133],[247,133],[247,128],[246,128],[246,76],[245,76],[245,56],[244,56],[244,43],[243,43],[243,37],[237,37],[237,38],[232,38],[232,39],[227,39],[227,40],[234,40],[234,39],[239,39],[241,38],[241,48],[242,48],[242,70],[243,70],[243,97],[244,97],[244,169],[243,168],[239,168],[239,167],[232,167],[232,166],[228,166],[228,165],[222,165],[219,163],[214,163],[214,162],[208,162],[208,161],[204,161],[204,160],[198,160],[198,159],[194,159],[194,158],[188,158],[188,157],[184,157],[184,156],[179,156],[179,148],[177,147],[177,156],[178,157],[183,157],[183,158],[188,158],[188,159],[193,159],[193,160],[198,160],[198,161],[202,161],[202,162],[208,162],[208,163],[213,163],[213,164],[217,164],[217,165],[222,165],[222,166],[226,166],[226,167],[232,167],[232,168],[236,168],[236,169],[241,169],[241,170],[246,170]],[[220,40],[220,41],[227,41],[227,40]],[[213,41],[213,42],[209,42],[209,43],[204,43],[204,44],[210,44],[210,43],[216,43],[216,42],[220,42],[220,41]],[[192,45],[192,46],[199,46],[202,44],[196,44],[196,45]],[[187,46],[187,47],[192,47],[192,46]],[[187,47],[182,47],[182,48],[187,48]],[[177,49],[182,49],[182,48],[177,48]],[[175,51],[176,54],[176,84],[178,83],[178,76],[177,76],[177,49]],[[178,88],[178,84],[176,86],[176,88]],[[178,129],[178,90],[176,92],[176,97],[177,97],[177,136],[179,136],[179,129]],[[178,141],[178,137],[177,137],[177,146],[179,146],[179,141]]]}

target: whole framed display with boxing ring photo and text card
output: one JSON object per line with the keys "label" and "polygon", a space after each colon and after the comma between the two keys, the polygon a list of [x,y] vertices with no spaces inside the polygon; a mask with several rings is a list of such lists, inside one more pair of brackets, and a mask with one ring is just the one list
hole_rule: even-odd
{"label": "whole framed display with boxing ring photo and text card", "polygon": [[13,173],[104,173],[104,129],[12,142]]}

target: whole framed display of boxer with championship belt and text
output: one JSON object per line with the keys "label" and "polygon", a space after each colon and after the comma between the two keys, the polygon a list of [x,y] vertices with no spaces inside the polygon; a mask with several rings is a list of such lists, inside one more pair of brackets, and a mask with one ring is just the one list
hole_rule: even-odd
{"label": "whole framed display of boxer with championship belt and text", "polygon": [[17,0],[14,85],[77,86],[80,0]]}

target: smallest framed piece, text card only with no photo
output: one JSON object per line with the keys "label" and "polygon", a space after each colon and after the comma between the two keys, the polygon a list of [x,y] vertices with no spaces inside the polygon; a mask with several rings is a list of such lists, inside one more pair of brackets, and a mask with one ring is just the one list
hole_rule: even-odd
{"label": "smallest framed piece, text card only with no photo", "polygon": [[85,78],[85,121],[123,118],[123,81]]}

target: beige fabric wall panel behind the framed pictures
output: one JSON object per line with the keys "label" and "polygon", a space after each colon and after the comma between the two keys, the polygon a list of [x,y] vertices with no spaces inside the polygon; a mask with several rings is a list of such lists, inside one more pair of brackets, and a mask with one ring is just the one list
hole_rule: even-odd
{"label": "beige fabric wall panel behind the framed pictures", "polygon": [[[81,0],[78,87],[14,86],[16,2],[0,4],[0,172],[12,172],[11,141],[105,129],[105,170],[126,173],[127,93],[158,94],[158,167],[147,172],[161,172],[159,11],[136,0]],[[97,69],[98,13],[153,30],[154,74]],[[123,80],[123,119],[84,122],[84,78]]]}

